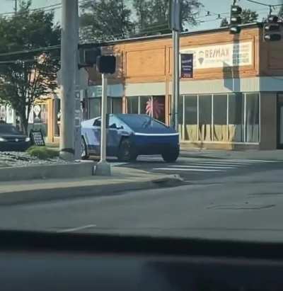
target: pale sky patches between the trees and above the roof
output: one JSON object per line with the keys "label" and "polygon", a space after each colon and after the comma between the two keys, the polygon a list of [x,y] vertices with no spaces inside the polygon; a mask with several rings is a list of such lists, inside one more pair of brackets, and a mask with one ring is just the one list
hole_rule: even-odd
{"label": "pale sky patches between the trees and above the roof", "polygon": [[[1,7],[0,13],[13,12],[13,7],[15,5],[15,0],[0,0]],[[20,0],[18,0],[20,1]],[[259,2],[275,5],[283,3],[283,0],[257,0]],[[219,28],[221,23],[221,19],[218,18],[218,14],[221,14],[221,18],[229,17],[229,11],[233,0],[200,0],[204,5],[204,8],[200,11],[200,16],[198,16],[198,21],[200,24],[196,27],[189,28],[190,31],[197,30],[207,30],[212,28]],[[60,4],[61,0],[33,0],[33,8],[39,8],[44,6],[50,6],[52,4]],[[238,5],[242,8],[250,8],[255,10],[259,14],[259,21],[262,20],[263,17],[266,17],[269,13],[269,8],[265,6],[261,6],[258,4],[250,3],[248,0],[238,0]],[[61,19],[61,9],[57,8],[55,11],[55,20],[60,21]],[[207,11],[210,12],[211,16],[207,16]]]}

